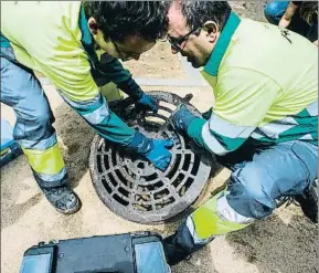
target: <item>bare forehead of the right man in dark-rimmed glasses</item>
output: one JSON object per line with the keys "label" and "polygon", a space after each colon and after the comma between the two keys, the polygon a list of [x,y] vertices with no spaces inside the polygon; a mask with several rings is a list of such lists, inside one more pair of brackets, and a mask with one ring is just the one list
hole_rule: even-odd
{"label": "bare forehead of the right man in dark-rimmed glasses", "polygon": [[174,1],[169,9],[168,12],[169,19],[169,31],[168,35],[177,36],[183,35],[189,32],[189,28],[187,27],[187,19],[182,14],[180,4]]}

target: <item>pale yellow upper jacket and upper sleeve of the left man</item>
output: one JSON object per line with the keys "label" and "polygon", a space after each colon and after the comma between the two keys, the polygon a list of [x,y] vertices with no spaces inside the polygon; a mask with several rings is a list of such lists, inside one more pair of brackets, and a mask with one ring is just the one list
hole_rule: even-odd
{"label": "pale yellow upper jacket and upper sleeve of the left man", "polygon": [[9,40],[14,59],[43,73],[75,101],[98,93],[82,44],[82,27],[86,32],[88,29],[81,4],[79,1],[1,2],[1,34]]}

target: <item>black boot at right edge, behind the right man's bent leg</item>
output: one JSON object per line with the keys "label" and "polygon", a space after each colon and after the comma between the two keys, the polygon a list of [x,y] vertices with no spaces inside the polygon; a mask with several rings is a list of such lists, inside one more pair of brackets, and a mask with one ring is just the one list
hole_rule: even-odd
{"label": "black boot at right edge, behind the right man's bent leg", "polygon": [[313,182],[302,195],[295,196],[295,200],[300,204],[305,216],[313,223],[318,223],[318,185]]}

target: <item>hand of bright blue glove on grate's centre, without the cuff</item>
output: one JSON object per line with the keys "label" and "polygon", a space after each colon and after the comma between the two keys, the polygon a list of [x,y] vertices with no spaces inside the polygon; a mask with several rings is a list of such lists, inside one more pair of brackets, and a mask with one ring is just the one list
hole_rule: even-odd
{"label": "hand of bright blue glove on grate's centre, without the cuff", "polygon": [[172,157],[168,148],[171,148],[173,145],[174,143],[171,139],[151,139],[152,148],[146,154],[146,158],[150,160],[156,168],[164,171]]}

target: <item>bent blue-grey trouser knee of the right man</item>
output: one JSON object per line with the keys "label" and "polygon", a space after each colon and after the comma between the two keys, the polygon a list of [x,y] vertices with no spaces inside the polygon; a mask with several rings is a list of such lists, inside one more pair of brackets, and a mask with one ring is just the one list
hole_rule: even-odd
{"label": "bent blue-grey trouser knee of the right man", "polygon": [[275,192],[267,185],[268,174],[264,168],[254,167],[236,170],[228,185],[230,206],[240,214],[263,219],[276,208]]}

